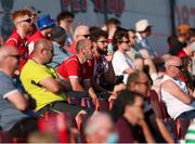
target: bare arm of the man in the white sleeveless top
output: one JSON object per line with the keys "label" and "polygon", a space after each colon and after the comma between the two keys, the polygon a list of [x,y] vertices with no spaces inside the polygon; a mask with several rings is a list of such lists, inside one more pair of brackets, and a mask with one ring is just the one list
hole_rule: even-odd
{"label": "bare arm of the man in the white sleeveless top", "polygon": [[170,94],[174,95],[177,99],[182,101],[184,104],[191,104],[192,97],[185,94],[179,86],[177,86],[172,80],[167,80],[162,83],[161,88]]}

